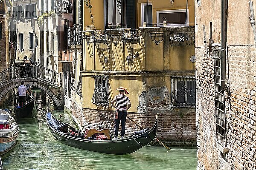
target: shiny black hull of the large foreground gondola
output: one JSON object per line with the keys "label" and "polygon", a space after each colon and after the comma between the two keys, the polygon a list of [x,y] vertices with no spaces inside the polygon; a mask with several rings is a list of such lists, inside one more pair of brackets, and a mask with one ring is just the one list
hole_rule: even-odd
{"label": "shiny black hull of the large foreground gondola", "polygon": [[[48,113],[49,114],[49,113]],[[153,127],[149,129],[147,137],[141,137],[141,135],[137,136],[129,136],[123,139],[117,140],[94,140],[94,139],[81,139],[76,136],[71,136],[66,133],[61,132],[56,128],[51,122],[55,119],[49,118],[47,114],[47,125],[49,126],[49,130],[51,131],[52,135],[58,139],[59,142],[63,144],[67,144],[72,147],[76,147],[83,150],[90,150],[99,153],[108,153],[108,154],[129,154],[133,153],[136,150],[144,147],[145,145],[152,142],[157,134],[157,120]],[[58,123],[58,122],[57,122]]]}

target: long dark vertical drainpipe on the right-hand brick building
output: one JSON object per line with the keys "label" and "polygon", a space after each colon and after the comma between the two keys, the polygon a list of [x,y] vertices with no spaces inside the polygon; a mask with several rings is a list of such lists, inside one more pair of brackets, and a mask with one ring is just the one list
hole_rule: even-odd
{"label": "long dark vertical drainpipe on the right-hand brick building", "polygon": [[226,85],[226,50],[227,50],[227,0],[221,0],[221,88],[228,92]]}

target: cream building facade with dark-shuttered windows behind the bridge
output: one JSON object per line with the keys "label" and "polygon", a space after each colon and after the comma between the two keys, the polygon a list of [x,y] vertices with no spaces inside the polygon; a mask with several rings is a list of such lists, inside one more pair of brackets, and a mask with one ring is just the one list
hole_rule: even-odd
{"label": "cream building facade with dark-shuttered windows behind the bridge", "polygon": [[[15,62],[23,65],[25,56],[40,62],[39,0],[15,0],[12,7]],[[39,60],[38,60],[39,59]]]}

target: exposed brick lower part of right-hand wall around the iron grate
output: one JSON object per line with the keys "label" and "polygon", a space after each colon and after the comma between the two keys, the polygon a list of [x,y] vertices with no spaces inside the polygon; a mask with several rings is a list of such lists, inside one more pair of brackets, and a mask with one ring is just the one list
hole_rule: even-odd
{"label": "exposed brick lower part of right-hand wall around the iron grate", "polygon": [[198,170],[256,169],[256,51],[254,45],[229,46],[230,101],[226,98],[226,160],[216,142],[213,59],[197,56]]}

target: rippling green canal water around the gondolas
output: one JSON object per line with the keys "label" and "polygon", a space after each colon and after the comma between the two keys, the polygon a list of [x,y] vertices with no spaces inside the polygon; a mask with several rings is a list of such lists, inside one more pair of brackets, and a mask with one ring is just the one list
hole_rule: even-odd
{"label": "rippling green canal water around the gondolas", "polygon": [[[37,91],[40,98],[41,91]],[[9,106],[12,110],[12,106]],[[45,112],[45,111],[44,111]],[[52,111],[74,125],[66,111]],[[13,112],[11,113],[13,115]],[[19,121],[16,147],[1,156],[4,170],[196,170],[196,148],[148,146],[129,155],[109,155],[80,150],[58,142],[44,116]]]}

